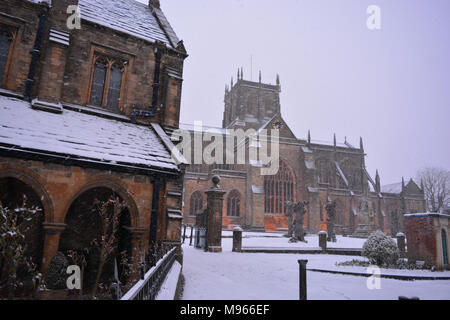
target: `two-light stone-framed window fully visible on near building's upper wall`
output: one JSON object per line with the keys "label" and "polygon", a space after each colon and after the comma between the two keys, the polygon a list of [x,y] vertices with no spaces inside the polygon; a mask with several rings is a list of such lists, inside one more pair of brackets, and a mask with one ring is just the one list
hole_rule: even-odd
{"label": "two-light stone-framed window fully visible on near building's upper wall", "polygon": [[127,61],[95,56],[89,103],[118,111]]}

